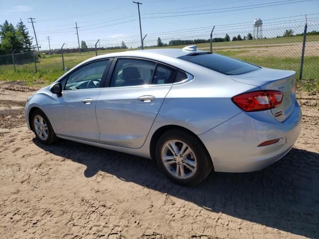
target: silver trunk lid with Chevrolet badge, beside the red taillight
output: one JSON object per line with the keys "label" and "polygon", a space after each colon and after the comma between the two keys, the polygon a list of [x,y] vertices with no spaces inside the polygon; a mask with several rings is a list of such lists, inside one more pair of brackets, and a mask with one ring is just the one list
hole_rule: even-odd
{"label": "silver trunk lid with Chevrolet badge, beside the red taillight", "polygon": [[283,122],[295,109],[296,100],[296,72],[261,68],[242,75],[230,76],[234,81],[258,86],[261,90],[274,90],[284,93],[279,107],[271,110],[275,119]]}

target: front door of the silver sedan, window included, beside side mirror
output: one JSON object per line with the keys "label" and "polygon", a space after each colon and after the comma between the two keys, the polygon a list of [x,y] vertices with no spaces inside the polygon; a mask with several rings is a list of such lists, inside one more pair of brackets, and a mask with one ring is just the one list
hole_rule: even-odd
{"label": "front door of the silver sedan, window included, beside side mirror", "polygon": [[90,62],[72,71],[62,81],[62,95],[54,94],[51,115],[56,134],[98,141],[96,100],[101,92],[112,60]]}

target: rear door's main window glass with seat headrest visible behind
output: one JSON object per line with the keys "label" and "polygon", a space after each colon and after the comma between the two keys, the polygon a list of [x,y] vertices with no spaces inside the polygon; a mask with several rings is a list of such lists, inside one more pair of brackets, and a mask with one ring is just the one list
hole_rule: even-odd
{"label": "rear door's main window glass with seat headrest visible behind", "polygon": [[118,59],[114,68],[111,87],[141,86],[152,82],[156,63],[140,59]]}

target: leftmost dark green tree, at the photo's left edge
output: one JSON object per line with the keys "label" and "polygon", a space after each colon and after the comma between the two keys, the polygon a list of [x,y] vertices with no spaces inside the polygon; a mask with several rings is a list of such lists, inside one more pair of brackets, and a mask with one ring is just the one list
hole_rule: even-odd
{"label": "leftmost dark green tree, at the photo's left edge", "polygon": [[22,48],[22,43],[19,42],[16,37],[14,26],[11,23],[8,23],[7,20],[5,20],[4,23],[0,25],[0,41],[1,50]]}

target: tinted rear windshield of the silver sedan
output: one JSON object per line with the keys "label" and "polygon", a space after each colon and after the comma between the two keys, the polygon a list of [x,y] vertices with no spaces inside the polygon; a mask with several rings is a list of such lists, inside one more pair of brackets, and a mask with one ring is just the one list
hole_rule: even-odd
{"label": "tinted rear windshield of the silver sedan", "polygon": [[258,66],[216,53],[185,55],[179,58],[225,75],[240,75],[260,69]]}

